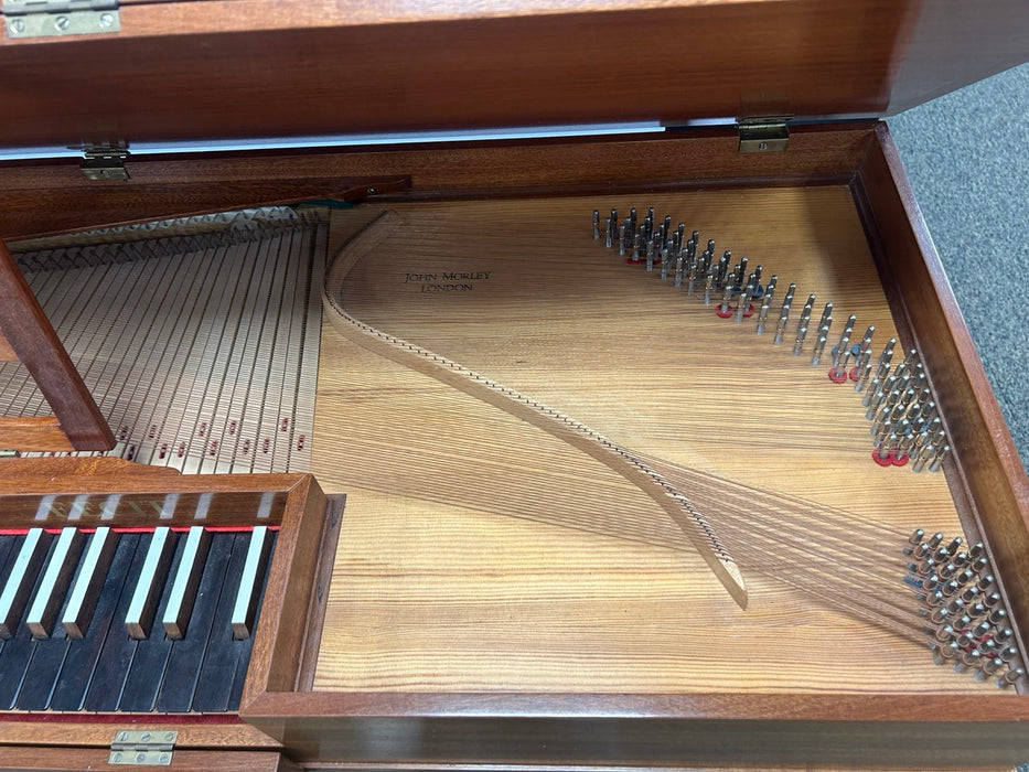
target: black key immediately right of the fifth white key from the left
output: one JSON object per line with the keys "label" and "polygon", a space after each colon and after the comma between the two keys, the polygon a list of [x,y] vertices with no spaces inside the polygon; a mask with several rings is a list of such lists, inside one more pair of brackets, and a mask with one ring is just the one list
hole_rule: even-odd
{"label": "black key immediately right of the fifth white key from the left", "polygon": [[193,614],[185,637],[175,641],[164,683],[158,697],[161,712],[189,712],[196,691],[196,682],[204,662],[204,651],[211,637],[211,628],[217,611],[218,597],[225,581],[225,572],[233,551],[235,534],[216,533],[211,538],[211,550],[201,576]]}

